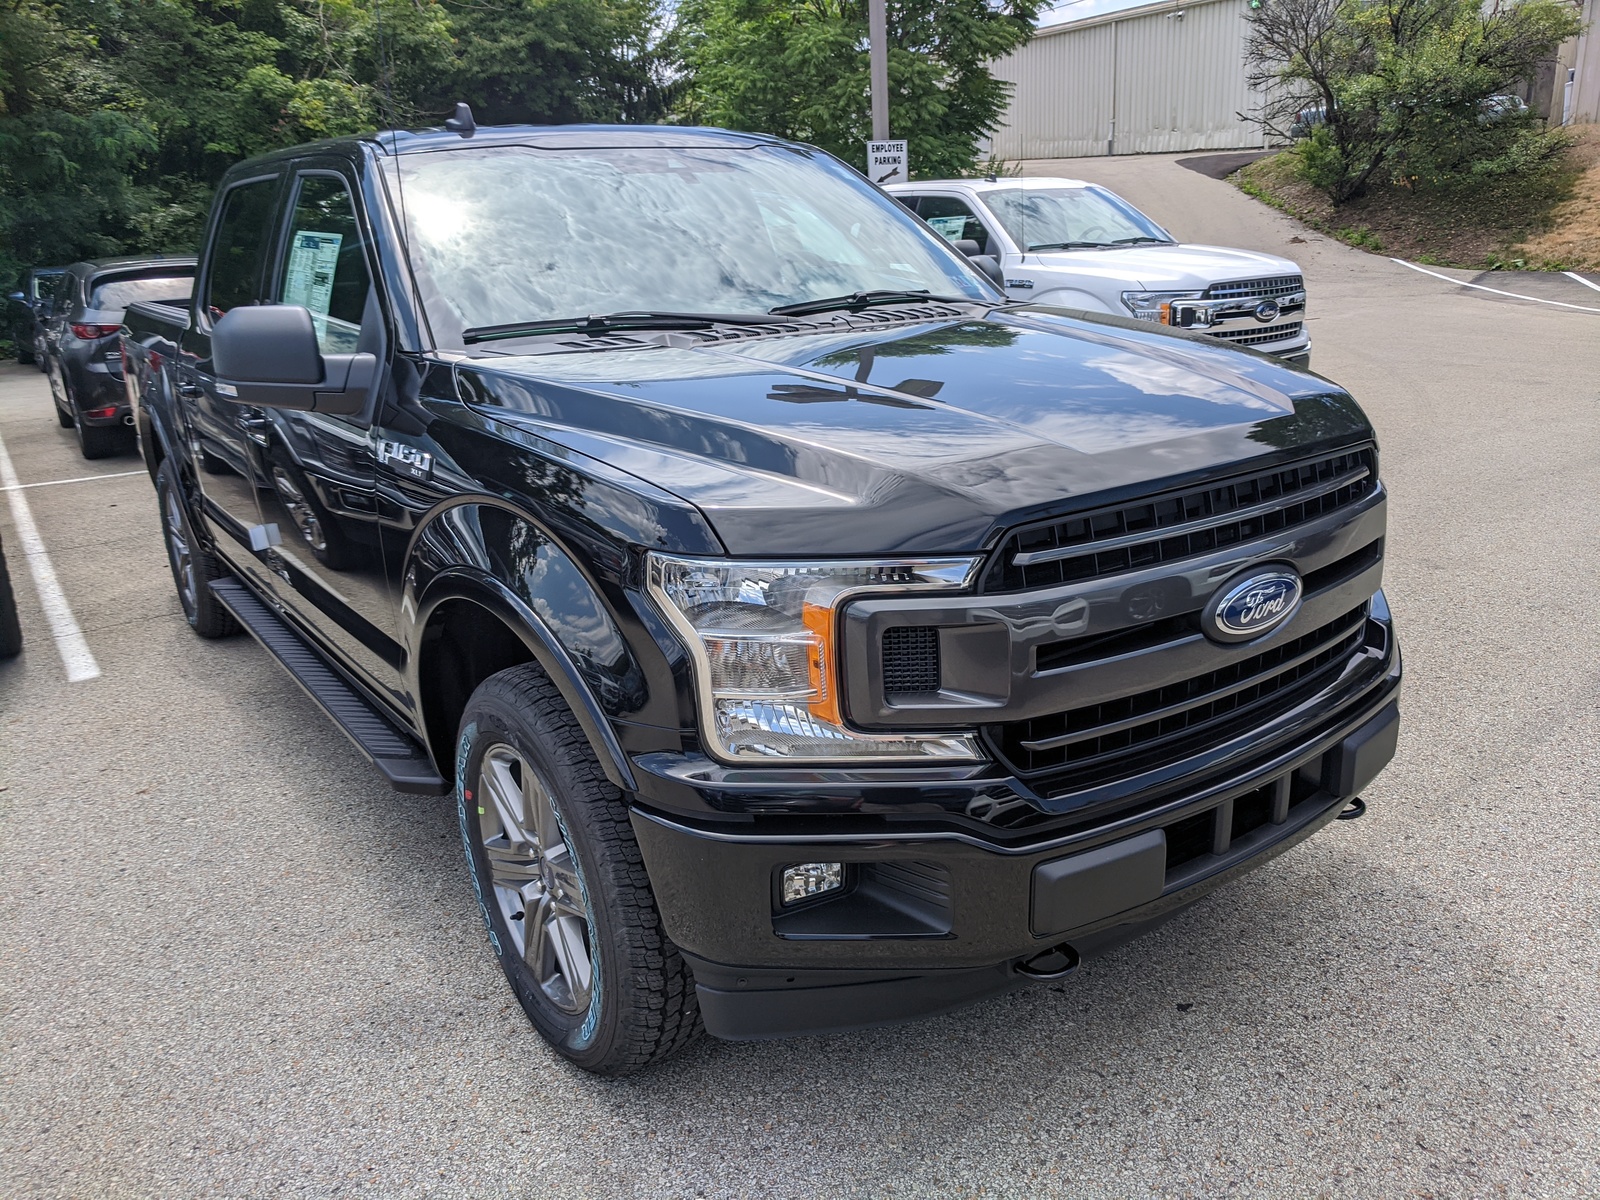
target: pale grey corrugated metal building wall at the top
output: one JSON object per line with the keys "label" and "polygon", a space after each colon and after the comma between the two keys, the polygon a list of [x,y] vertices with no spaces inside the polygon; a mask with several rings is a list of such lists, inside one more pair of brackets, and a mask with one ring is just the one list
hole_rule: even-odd
{"label": "pale grey corrugated metal building wall at the top", "polygon": [[1226,150],[1261,146],[1237,114],[1245,85],[1245,0],[1134,10],[1042,30],[995,64],[1016,85],[992,139],[1000,158]]}

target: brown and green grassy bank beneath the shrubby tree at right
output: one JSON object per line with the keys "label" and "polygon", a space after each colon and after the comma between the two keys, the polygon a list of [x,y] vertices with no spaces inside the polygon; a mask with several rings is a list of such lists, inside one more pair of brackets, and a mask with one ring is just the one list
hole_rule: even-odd
{"label": "brown and green grassy bank beneath the shrubby tree at right", "polygon": [[1477,187],[1374,187],[1334,205],[1294,173],[1288,152],[1232,174],[1248,195],[1350,246],[1440,267],[1600,269],[1600,126],[1579,126],[1549,171]]}

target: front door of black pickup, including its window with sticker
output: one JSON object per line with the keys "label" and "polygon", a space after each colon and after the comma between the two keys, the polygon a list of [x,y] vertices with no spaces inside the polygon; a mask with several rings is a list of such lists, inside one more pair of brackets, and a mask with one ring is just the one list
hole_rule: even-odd
{"label": "front door of black pickup, including its window with sticker", "polygon": [[[346,170],[312,160],[294,173],[266,299],[309,309],[323,354],[386,362],[373,240]],[[277,526],[275,597],[360,682],[394,698],[402,656],[378,530],[376,406],[354,416],[246,406],[243,421],[264,480],[261,518]]]}

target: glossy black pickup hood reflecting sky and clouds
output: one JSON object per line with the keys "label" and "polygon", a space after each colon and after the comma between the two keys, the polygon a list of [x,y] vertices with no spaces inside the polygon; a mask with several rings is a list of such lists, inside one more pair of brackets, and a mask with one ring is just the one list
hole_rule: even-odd
{"label": "glossy black pickup hood reflecting sky and clouds", "polygon": [[464,398],[694,504],[744,557],[944,554],[1371,435],[1326,379],[1048,309],[464,362]]}

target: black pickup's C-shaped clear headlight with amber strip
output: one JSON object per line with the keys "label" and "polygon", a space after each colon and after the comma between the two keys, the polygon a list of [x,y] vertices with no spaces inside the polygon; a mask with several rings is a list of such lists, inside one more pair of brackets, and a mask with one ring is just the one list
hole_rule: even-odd
{"label": "black pickup's C-shaped clear headlight with amber strip", "polygon": [[845,728],[838,608],[866,592],[954,590],[979,558],[734,563],[650,555],[650,595],[688,646],[709,749],[730,762],[976,760],[965,733]]}

